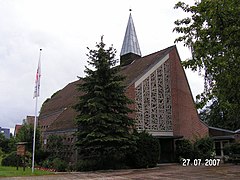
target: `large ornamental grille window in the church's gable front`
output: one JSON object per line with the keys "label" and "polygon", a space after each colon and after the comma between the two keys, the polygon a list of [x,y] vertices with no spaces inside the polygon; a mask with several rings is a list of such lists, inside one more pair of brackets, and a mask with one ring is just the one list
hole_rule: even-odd
{"label": "large ornamental grille window in the church's gable front", "polygon": [[136,127],[172,131],[170,63],[166,61],[136,88]]}

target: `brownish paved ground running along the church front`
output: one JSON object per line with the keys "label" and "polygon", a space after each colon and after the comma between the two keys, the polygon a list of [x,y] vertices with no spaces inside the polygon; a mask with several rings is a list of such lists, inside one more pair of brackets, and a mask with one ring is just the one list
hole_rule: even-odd
{"label": "brownish paved ground running along the church front", "polygon": [[11,180],[149,180],[149,179],[240,179],[240,165],[222,164],[217,167],[160,165],[151,169],[56,173],[47,176],[0,178]]}

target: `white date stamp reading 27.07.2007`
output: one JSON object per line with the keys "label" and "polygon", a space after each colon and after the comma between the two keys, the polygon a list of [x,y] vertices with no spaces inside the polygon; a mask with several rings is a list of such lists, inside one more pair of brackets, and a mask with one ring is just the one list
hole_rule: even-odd
{"label": "white date stamp reading 27.07.2007", "polygon": [[193,159],[191,162],[190,159],[182,159],[183,166],[219,166],[220,159]]}

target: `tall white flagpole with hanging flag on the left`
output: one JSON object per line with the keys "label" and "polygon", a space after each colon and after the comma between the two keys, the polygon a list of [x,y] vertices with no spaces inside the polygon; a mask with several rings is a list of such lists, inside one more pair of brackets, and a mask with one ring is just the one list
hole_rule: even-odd
{"label": "tall white flagpole with hanging flag on the left", "polygon": [[39,86],[40,86],[40,60],[41,60],[41,51],[39,53],[39,61],[38,61],[38,69],[37,69],[37,75],[36,75],[36,85],[35,85],[35,95],[36,98],[35,101],[35,118],[34,118],[34,133],[33,133],[33,152],[32,152],[32,173],[34,172],[34,159],[35,159],[35,146],[36,146],[36,129],[37,129],[37,105],[38,105],[38,96],[39,96]]}

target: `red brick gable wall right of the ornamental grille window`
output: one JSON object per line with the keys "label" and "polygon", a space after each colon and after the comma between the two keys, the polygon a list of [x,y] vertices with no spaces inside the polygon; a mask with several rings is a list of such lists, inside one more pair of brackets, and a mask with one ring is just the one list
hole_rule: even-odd
{"label": "red brick gable wall right of the ornamental grille window", "polygon": [[177,50],[170,52],[173,134],[194,139],[208,135],[208,127],[200,121],[186,74]]}

